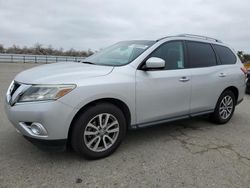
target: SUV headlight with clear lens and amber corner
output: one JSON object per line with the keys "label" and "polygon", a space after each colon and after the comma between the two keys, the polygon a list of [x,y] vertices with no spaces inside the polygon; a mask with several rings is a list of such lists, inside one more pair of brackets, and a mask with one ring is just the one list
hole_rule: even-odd
{"label": "SUV headlight with clear lens and amber corner", "polygon": [[32,85],[20,96],[18,102],[56,100],[75,87],[75,85]]}

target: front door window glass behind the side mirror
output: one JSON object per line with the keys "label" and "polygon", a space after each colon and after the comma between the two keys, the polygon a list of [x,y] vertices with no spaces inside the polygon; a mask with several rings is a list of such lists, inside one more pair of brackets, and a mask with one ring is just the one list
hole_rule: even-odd
{"label": "front door window glass behind the side mirror", "polygon": [[181,41],[167,42],[157,48],[150,57],[159,57],[165,60],[166,70],[183,69],[184,55]]}

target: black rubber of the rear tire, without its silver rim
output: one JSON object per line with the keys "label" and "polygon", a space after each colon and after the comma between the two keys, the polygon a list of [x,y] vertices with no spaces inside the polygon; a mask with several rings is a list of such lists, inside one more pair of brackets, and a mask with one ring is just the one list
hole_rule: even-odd
{"label": "black rubber of the rear tire, without its silver rim", "polygon": [[[229,96],[232,98],[232,112],[231,114],[227,117],[227,118],[223,118],[222,115],[220,115],[220,105],[222,103],[222,100],[226,97]],[[217,124],[225,124],[227,123],[233,116],[234,110],[235,110],[235,105],[236,105],[236,99],[235,99],[235,95],[231,90],[226,90],[224,91],[216,104],[215,110],[212,114],[210,114],[210,119],[212,122],[217,123]]]}

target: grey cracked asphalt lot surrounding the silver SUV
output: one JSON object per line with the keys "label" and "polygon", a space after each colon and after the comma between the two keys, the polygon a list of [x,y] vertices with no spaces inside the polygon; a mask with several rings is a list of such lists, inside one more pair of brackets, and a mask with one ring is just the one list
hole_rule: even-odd
{"label": "grey cracked asphalt lot surrounding the silver SUV", "polygon": [[111,156],[88,161],[45,152],[19,135],[3,110],[14,76],[34,64],[0,64],[0,187],[250,187],[250,96],[231,121],[206,117],[129,131]]}

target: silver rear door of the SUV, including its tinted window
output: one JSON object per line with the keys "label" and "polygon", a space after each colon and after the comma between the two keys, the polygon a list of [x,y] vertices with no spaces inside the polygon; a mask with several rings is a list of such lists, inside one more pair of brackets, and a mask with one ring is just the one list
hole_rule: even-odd
{"label": "silver rear door of the SUV, including its tinted window", "polygon": [[227,85],[227,75],[211,44],[186,41],[186,47],[192,73],[190,110],[191,113],[205,113],[214,109]]}

